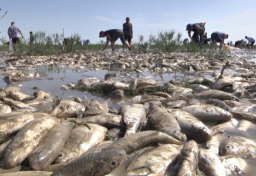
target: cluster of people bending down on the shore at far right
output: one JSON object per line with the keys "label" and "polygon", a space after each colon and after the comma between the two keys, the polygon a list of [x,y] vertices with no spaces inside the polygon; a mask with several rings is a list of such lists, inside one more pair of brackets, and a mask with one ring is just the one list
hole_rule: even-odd
{"label": "cluster of people bending down on the shore at far right", "polygon": [[[187,25],[186,31],[188,31],[188,36],[191,39],[192,42],[198,43],[200,47],[203,47],[203,45],[208,45],[208,42],[211,43],[211,45],[214,45],[216,43],[220,43],[220,49],[223,48],[223,45],[225,45],[224,40],[228,39],[228,34],[224,32],[218,32],[215,31],[211,33],[211,38],[207,38],[207,33],[205,33],[206,23],[189,23]],[[191,37],[191,32],[193,33],[193,36]],[[186,44],[188,42],[188,39],[184,40],[183,44]],[[235,47],[238,46],[239,48],[251,48],[255,43],[255,40],[251,37],[245,36],[245,39],[238,40],[235,42]],[[233,45],[232,41],[228,43],[229,45]]]}

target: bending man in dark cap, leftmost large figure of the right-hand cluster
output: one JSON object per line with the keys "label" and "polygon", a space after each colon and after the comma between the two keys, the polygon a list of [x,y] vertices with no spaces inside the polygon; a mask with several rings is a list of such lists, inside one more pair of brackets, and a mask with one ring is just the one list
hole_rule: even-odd
{"label": "bending man in dark cap, leftmost large figure of the right-hand cluster", "polygon": [[[193,41],[198,43],[201,47],[203,47],[203,43],[204,43],[204,31],[206,31],[206,28],[204,28],[204,25],[206,25],[206,23],[194,23],[192,24],[188,24],[186,31],[188,32],[188,36],[189,38]],[[193,31],[193,36],[191,38],[191,31]],[[200,39],[199,39],[200,36]]]}

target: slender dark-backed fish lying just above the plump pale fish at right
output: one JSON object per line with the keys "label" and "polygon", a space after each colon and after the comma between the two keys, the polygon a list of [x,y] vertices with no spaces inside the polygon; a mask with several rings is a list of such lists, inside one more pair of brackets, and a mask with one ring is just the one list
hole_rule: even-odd
{"label": "slender dark-backed fish lying just above the plump pale fish at right", "polygon": [[231,93],[223,92],[221,90],[206,90],[196,94],[200,99],[218,99],[218,100],[235,100],[239,101],[238,97],[235,97]]}

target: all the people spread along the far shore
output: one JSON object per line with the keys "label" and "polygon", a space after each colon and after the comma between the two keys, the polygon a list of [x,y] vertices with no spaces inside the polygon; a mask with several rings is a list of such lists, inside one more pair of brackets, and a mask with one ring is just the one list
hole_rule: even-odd
{"label": "all the people spread along the far shore", "polygon": [[[198,43],[200,47],[203,47],[203,45],[208,45],[208,43],[211,43],[211,45],[214,45],[216,43],[220,43],[220,49],[223,48],[223,45],[225,45],[224,40],[228,39],[228,34],[224,32],[218,32],[215,31],[211,33],[211,38],[207,37],[207,32],[205,28],[206,23],[200,22],[200,23],[189,23],[187,25],[186,31],[188,32],[188,36],[191,39],[191,42]],[[194,32],[191,36],[191,32]],[[15,22],[11,23],[11,26],[8,28],[8,36],[9,39],[12,40],[12,43],[18,43],[19,42],[19,34],[21,34],[22,39],[23,34],[21,30],[15,25]],[[100,38],[106,37],[106,45],[103,47],[102,50],[105,50],[107,46],[109,45],[109,42],[111,43],[111,48],[114,51],[116,49],[115,42],[117,39],[120,39],[124,46],[126,46],[129,50],[131,50],[131,42],[133,38],[133,25],[130,23],[130,18],[126,18],[126,22],[123,23],[123,30],[121,29],[110,29],[107,31],[100,31],[99,33]],[[68,40],[68,39],[66,39]],[[29,44],[32,44],[34,41],[33,32],[29,32]],[[127,42],[128,41],[128,42]],[[184,39],[183,44],[185,45],[188,42],[188,39]],[[66,41],[64,39],[63,43],[65,44]],[[89,39],[81,39],[79,41],[80,45],[89,44]],[[234,46],[239,48],[251,48],[255,43],[255,40],[251,37],[245,36],[244,39],[238,40],[235,42]],[[9,43],[8,43],[9,44]],[[233,46],[232,41],[227,43],[227,45]]]}

